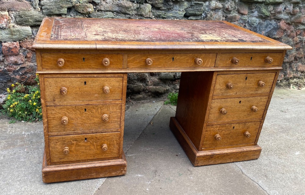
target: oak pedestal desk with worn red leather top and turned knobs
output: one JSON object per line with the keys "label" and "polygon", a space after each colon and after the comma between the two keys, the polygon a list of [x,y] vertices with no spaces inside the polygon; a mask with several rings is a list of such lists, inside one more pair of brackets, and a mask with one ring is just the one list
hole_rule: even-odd
{"label": "oak pedestal desk with worn red leather top and turned knobs", "polygon": [[126,173],[127,73],[182,72],[170,129],[195,166],[257,159],[290,46],[225,21],[45,18],[33,44],[43,182]]}

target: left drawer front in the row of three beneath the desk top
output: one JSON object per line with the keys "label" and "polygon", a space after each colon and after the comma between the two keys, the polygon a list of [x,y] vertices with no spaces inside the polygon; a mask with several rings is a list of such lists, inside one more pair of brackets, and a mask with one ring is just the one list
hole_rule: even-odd
{"label": "left drawer front in the row of three beneath the desk top", "polygon": [[41,53],[42,69],[123,68],[123,54]]}

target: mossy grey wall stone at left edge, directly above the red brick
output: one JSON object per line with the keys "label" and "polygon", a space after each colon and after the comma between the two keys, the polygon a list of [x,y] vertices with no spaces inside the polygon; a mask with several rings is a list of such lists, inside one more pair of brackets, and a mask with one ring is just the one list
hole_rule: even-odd
{"label": "mossy grey wall stone at left edge, directly above the red brick", "polygon": [[30,27],[13,27],[7,29],[0,29],[0,41],[21,41],[30,35],[32,35]]}

